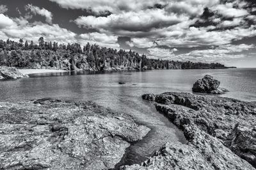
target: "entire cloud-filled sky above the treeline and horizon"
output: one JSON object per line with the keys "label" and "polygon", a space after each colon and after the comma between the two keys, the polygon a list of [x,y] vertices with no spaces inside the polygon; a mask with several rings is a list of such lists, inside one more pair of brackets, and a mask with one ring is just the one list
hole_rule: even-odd
{"label": "entire cloud-filled sky above the treeline and horizon", "polygon": [[255,0],[0,0],[0,39],[256,67]]}

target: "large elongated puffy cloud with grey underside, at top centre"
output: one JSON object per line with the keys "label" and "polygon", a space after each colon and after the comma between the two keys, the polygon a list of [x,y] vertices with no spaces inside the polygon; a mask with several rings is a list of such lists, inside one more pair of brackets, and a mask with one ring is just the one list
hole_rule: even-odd
{"label": "large elongated puffy cloud with grey underside, at top centre", "polygon": [[151,29],[168,27],[178,24],[188,17],[168,15],[164,10],[153,9],[145,11],[129,11],[119,15],[111,14],[108,17],[79,17],[76,24],[84,28],[93,28],[103,31],[150,31]]}

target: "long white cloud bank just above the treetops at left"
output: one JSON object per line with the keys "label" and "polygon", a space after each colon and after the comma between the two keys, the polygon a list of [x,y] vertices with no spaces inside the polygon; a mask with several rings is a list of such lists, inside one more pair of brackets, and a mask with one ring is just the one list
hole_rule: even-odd
{"label": "long white cloud bank just above the treetops at left", "polygon": [[0,39],[13,39],[19,41],[24,38],[28,41],[37,42],[44,36],[46,41],[57,41],[58,43],[86,43],[111,48],[120,48],[118,45],[118,36],[108,35],[99,32],[89,32],[86,34],[76,34],[68,29],[60,27],[58,24],[44,24],[42,22],[29,23],[24,17],[10,18],[0,14]]}

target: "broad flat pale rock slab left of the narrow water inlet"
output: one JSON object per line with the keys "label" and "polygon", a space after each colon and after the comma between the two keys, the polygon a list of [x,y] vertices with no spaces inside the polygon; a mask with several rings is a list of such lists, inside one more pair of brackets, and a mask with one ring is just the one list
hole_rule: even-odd
{"label": "broad flat pale rock slab left of the narrow water inlet", "polygon": [[150,129],[91,102],[0,102],[0,169],[109,169]]}

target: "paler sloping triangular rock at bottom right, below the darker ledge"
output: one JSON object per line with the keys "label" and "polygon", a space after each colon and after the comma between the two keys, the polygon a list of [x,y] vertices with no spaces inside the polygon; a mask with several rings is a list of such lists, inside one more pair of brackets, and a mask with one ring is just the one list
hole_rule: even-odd
{"label": "paler sloping triangular rock at bottom right, below the darker ledge", "polygon": [[195,126],[186,127],[186,131],[189,135],[193,134],[186,136],[190,138],[187,145],[166,143],[141,166],[124,166],[122,169],[253,169],[248,162],[204,131]]}

